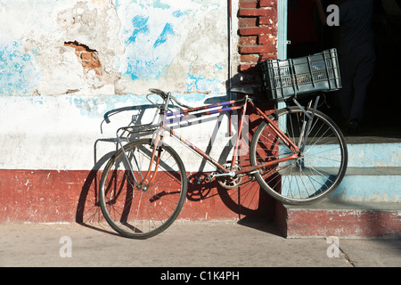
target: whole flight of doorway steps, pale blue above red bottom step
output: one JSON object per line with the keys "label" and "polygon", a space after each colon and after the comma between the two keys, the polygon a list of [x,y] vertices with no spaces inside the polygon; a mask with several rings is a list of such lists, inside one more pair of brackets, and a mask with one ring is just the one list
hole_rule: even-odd
{"label": "whole flight of doorway steps, pale blue above red bottom step", "polygon": [[[322,148],[332,149],[330,145]],[[321,173],[331,173],[333,167],[319,160],[306,160],[305,166]],[[302,179],[299,184],[305,187],[313,181]],[[307,206],[277,201],[274,219],[287,238],[400,239],[401,142],[348,138],[347,173],[331,196]]]}

